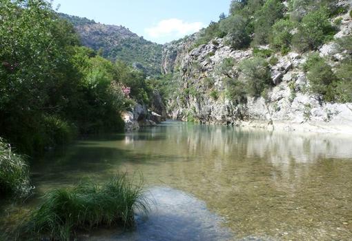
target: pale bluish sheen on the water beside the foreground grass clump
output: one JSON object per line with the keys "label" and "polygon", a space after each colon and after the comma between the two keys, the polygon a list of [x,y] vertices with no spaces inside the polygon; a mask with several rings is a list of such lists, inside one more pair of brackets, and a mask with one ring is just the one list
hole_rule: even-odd
{"label": "pale bluish sheen on the water beside the foreground grass clump", "polygon": [[107,235],[98,231],[85,240],[176,241],[228,240],[230,232],[219,226],[220,218],[206,209],[206,204],[182,191],[154,187],[147,192],[154,200],[148,218],[137,216],[137,228],[126,233]]}

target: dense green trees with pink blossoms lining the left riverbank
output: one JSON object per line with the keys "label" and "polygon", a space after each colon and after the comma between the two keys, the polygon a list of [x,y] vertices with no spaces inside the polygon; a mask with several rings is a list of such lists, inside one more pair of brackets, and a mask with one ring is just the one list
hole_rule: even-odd
{"label": "dense green trees with pink blossoms lining the left riverbank", "polygon": [[121,111],[148,104],[144,73],[79,47],[47,1],[1,0],[0,16],[0,135],[19,151],[40,152],[75,133],[122,131]]}

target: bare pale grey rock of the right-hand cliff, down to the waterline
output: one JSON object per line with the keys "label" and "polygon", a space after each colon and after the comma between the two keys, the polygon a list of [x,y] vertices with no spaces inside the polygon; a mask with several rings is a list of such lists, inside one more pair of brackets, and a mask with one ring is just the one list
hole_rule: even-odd
{"label": "bare pale grey rock of the right-hand cliff, down to the waterline", "polygon": [[[343,18],[341,30],[335,38],[351,35],[351,17],[346,15]],[[297,52],[289,52],[286,56],[276,54],[277,64],[270,66],[275,86],[266,99],[248,97],[246,104],[236,104],[226,97],[224,81],[228,77],[238,77],[237,63],[252,57],[253,50],[232,50],[222,39],[213,39],[188,53],[184,52],[182,49],[191,41],[193,39],[186,39],[164,49],[164,73],[173,69],[179,75],[179,86],[188,94],[169,100],[168,115],[173,119],[352,134],[352,103],[322,102],[320,97],[307,91],[309,81],[302,70],[306,55]],[[333,43],[320,48],[320,55],[328,57],[331,63],[336,63],[342,54]],[[234,61],[235,66],[224,71],[221,66],[228,58]],[[176,65],[179,68],[175,68]]]}

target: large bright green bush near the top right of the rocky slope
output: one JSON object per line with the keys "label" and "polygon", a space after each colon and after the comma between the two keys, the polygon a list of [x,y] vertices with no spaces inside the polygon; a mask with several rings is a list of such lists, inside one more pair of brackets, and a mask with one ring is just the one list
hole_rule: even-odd
{"label": "large bright green bush near the top right of the rocky slope", "polygon": [[293,36],[293,46],[301,52],[317,50],[325,41],[331,40],[334,34],[326,9],[320,8],[303,17]]}

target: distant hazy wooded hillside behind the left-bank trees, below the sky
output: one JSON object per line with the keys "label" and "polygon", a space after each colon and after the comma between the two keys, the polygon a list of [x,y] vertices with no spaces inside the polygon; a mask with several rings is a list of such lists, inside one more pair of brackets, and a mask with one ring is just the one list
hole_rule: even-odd
{"label": "distant hazy wooded hillside behind the left-bank trees, below the sky", "polygon": [[147,41],[124,26],[105,25],[62,13],[59,15],[75,26],[84,46],[101,49],[104,57],[133,64],[147,75],[161,72],[162,45]]}

